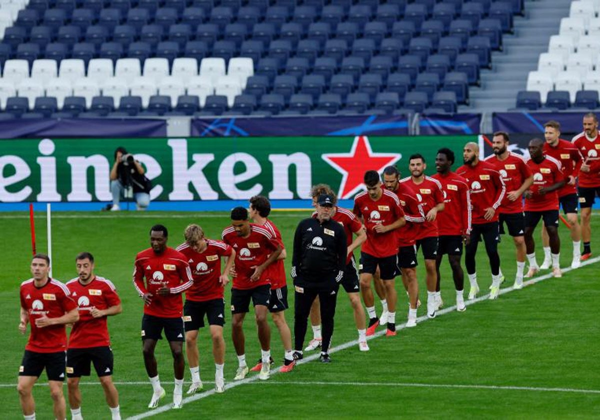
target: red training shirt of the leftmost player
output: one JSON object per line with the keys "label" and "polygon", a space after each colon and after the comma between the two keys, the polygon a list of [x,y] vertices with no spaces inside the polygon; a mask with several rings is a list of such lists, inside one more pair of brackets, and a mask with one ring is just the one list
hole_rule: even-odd
{"label": "red training shirt of the leftmost player", "polygon": [[58,280],[49,278],[42,287],[35,287],[33,278],[23,281],[20,287],[21,307],[29,314],[31,334],[25,350],[37,353],[64,352],[67,349],[67,332],[63,325],[35,326],[35,320],[46,315],[58,318],[74,310],[77,304],[71,299],[69,289]]}

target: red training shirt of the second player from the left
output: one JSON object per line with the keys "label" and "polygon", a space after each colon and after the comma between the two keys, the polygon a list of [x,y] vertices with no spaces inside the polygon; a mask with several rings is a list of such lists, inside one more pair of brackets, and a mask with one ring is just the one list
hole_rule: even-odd
{"label": "red training shirt of the second player from the left", "polygon": [[95,276],[85,286],[79,282],[79,277],[73,278],[67,282],[67,287],[71,298],[79,306],[79,321],[73,325],[69,335],[69,349],[110,346],[107,317],[94,318],[89,311],[92,308],[105,310],[120,304],[115,285],[104,277]]}

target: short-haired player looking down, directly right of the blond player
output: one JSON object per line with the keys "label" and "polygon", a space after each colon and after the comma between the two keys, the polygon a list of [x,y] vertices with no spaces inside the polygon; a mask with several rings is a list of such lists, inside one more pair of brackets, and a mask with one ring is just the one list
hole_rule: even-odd
{"label": "short-haired player looking down, directly right of the blond player", "polygon": [[223,242],[235,251],[235,276],[231,290],[232,340],[238,355],[235,380],[248,374],[245,354],[244,318],[254,304],[254,319],[258,329],[262,365],[260,380],[271,375],[271,329],[266,316],[271,298],[271,284],[266,268],[277,261],[283,248],[268,230],[248,220],[248,210],[236,207],[231,211],[231,226],[222,234]]}

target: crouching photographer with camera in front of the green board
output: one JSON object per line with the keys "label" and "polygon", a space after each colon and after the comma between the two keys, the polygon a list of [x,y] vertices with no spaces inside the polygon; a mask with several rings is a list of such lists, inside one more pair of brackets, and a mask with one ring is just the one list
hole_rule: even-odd
{"label": "crouching photographer with camera in front of the green board", "polygon": [[110,191],[113,194],[111,211],[119,211],[119,200],[133,199],[135,197],[138,210],[145,210],[150,204],[150,190],[152,185],[144,175],[144,168],[135,160],[133,155],[127,153],[125,148],[115,150],[115,163],[110,170]]}

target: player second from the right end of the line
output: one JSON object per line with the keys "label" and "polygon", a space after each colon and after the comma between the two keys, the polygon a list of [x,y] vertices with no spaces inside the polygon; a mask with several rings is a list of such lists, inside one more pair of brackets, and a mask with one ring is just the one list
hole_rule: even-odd
{"label": "player second from the right end of the line", "polygon": [[[563,175],[565,176],[565,185],[558,191],[559,203],[566,215],[571,230],[571,239],[573,241],[573,259],[571,268],[578,268],[581,265],[581,226],[577,220],[577,173],[575,167],[581,162],[579,150],[566,140],[560,139],[560,123],[557,121],[548,121],[544,124],[544,154],[553,157],[560,162]],[[542,229],[542,242],[544,244],[544,262],[540,266],[542,269],[548,269],[551,266],[550,257],[550,239],[545,226]]]}

